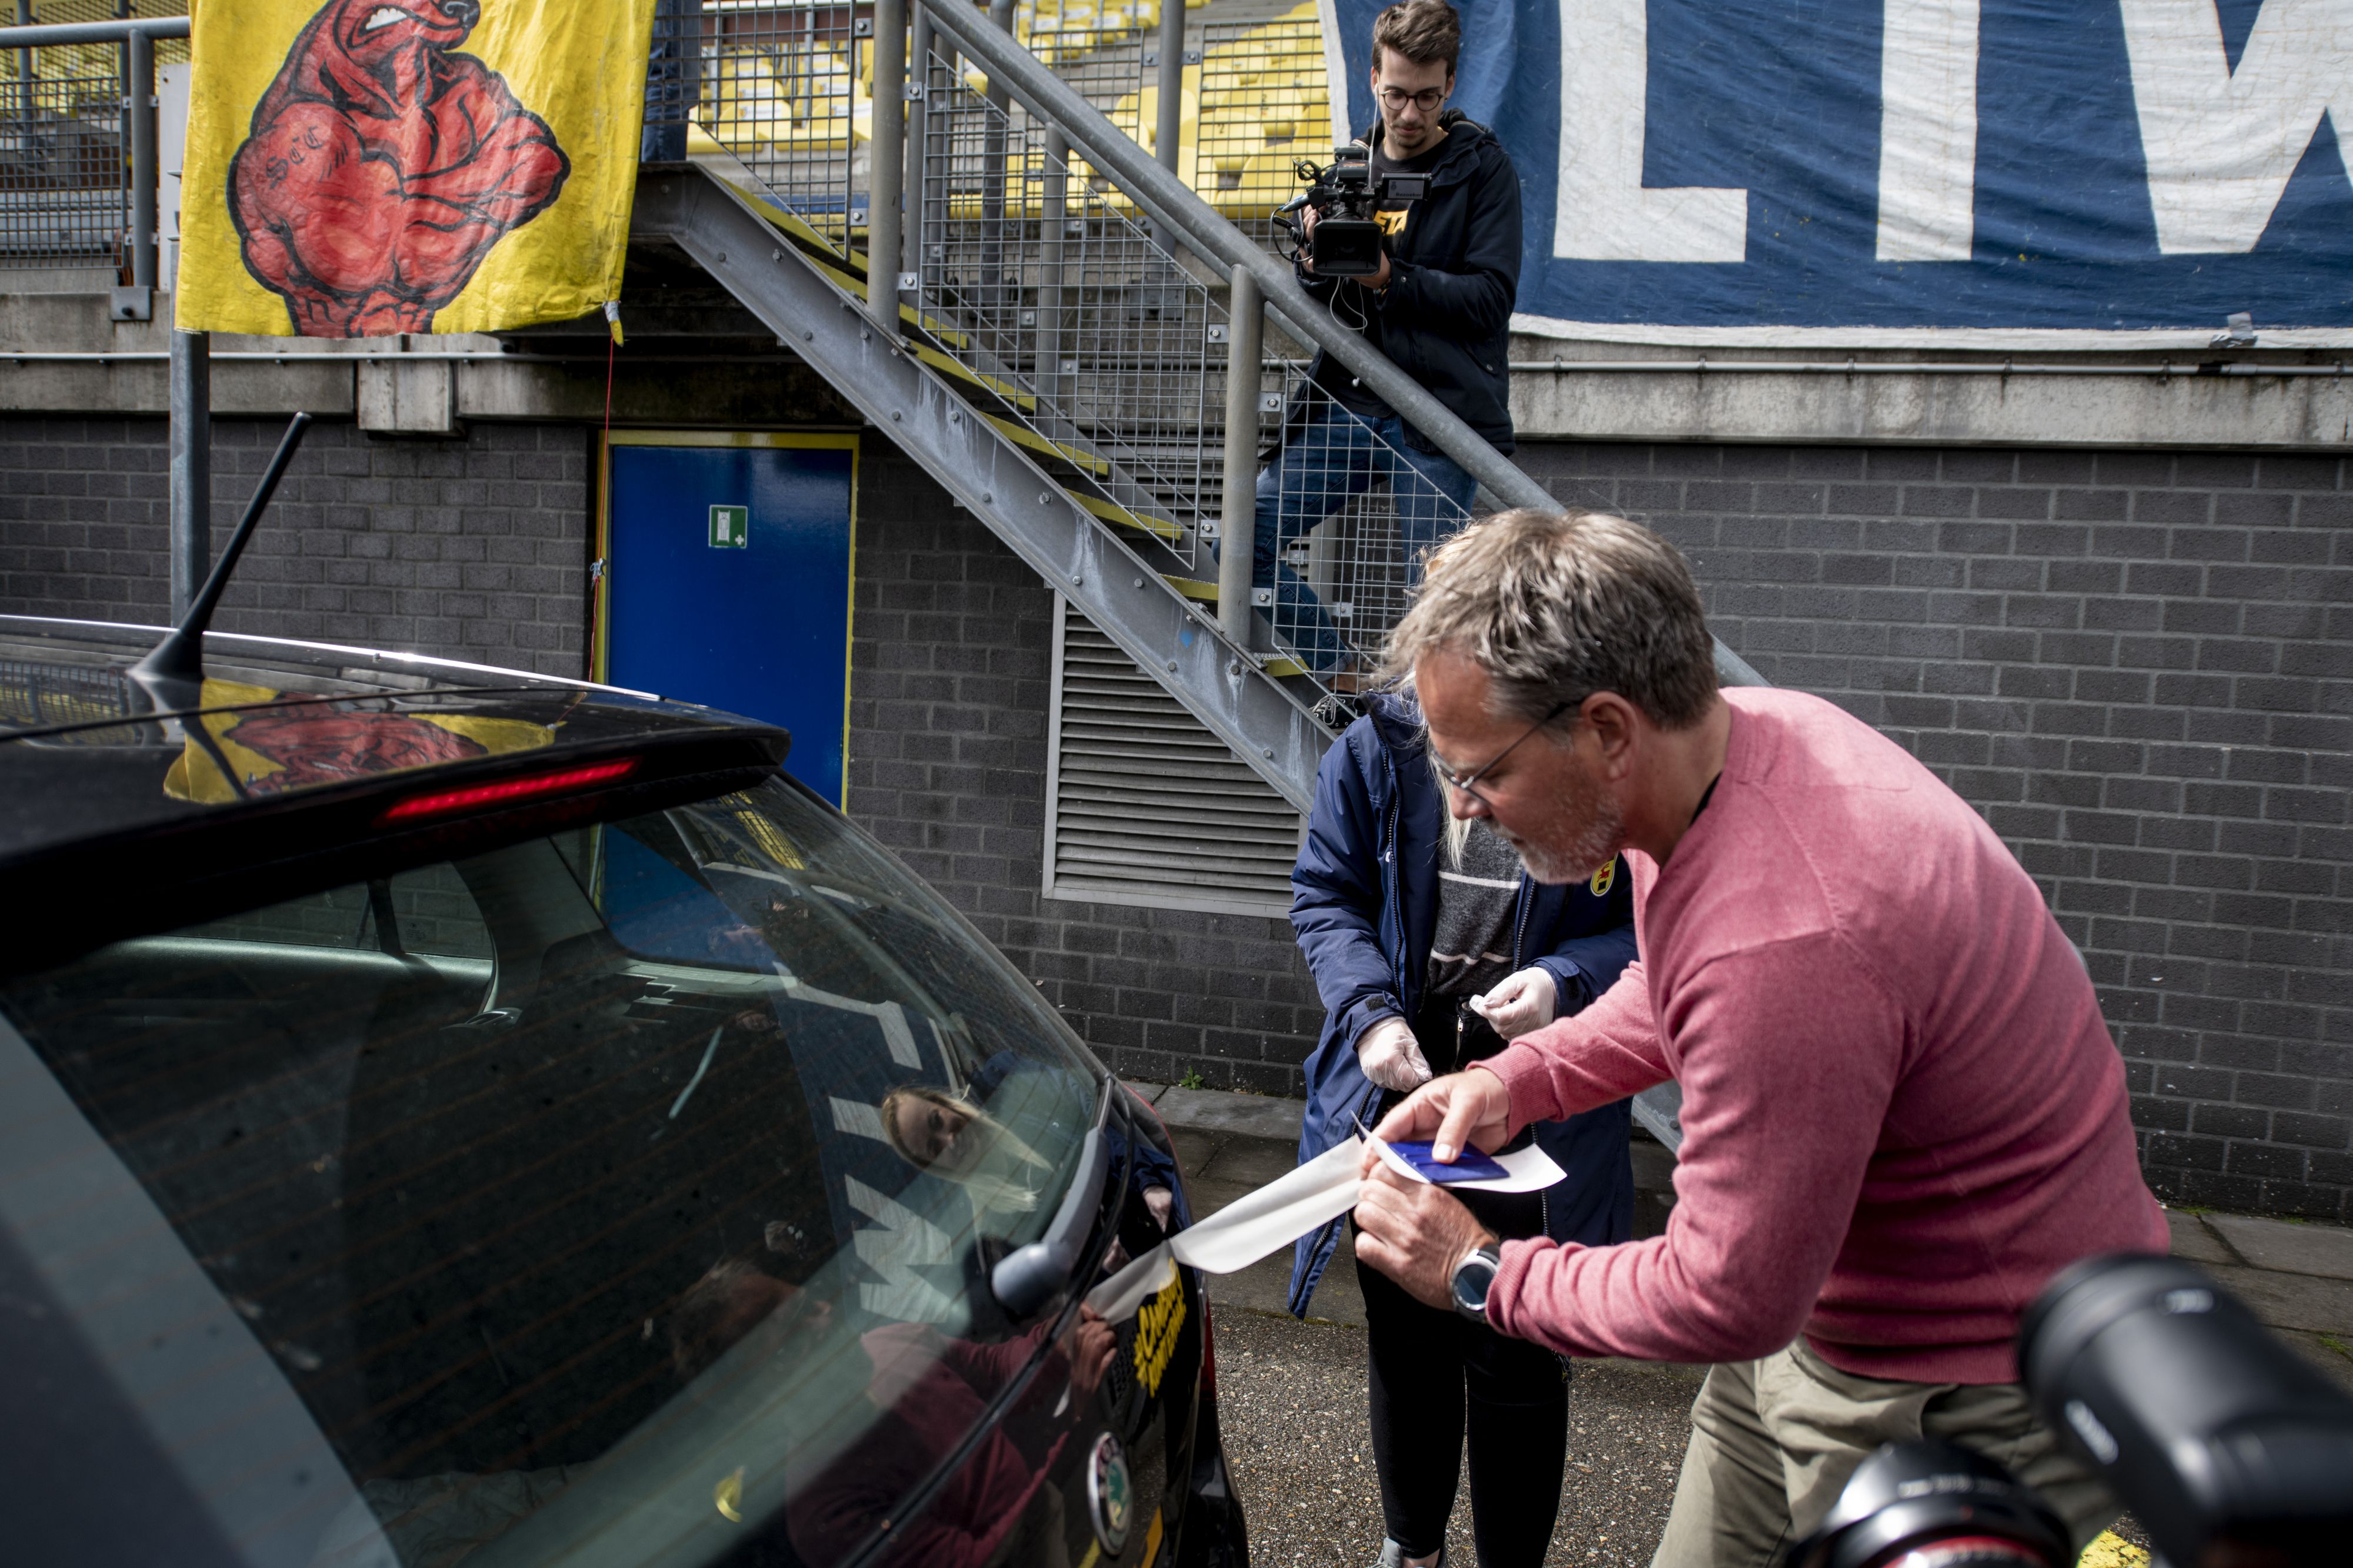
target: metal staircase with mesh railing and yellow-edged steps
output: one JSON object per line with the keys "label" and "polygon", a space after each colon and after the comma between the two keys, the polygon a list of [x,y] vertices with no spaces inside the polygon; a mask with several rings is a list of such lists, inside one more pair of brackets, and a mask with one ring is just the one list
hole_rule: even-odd
{"label": "metal staircase with mesh railing and yellow-edged steps", "polygon": [[[1136,125],[1141,94],[1122,87],[1146,52],[1106,71],[1104,49],[1059,40],[1073,87],[1005,31],[1007,0],[988,16],[915,0],[913,26],[901,5],[868,21],[734,0],[685,21],[673,47],[699,89],[678,92],[673,66],[647,110],[659,132],[664,99],[694,106],[668,127],[685,158],[645,167],[633,230],[722,282],[1306,811],[1344,717],[1329,686],[1405,607],[1400,503],[1440,536],[1468,522],[1435,491],[1377,484],[1289,552],[1311,599],[1252,590],[1259,447],[1287,414],[1299,440],[1322,397],[1308,353],[1327,348],[1497,501],[1551,498],[1176,179],[1169,113],[1155,160],[1089,103]],[[1162,103],[1181,80],[1169,12]]]}

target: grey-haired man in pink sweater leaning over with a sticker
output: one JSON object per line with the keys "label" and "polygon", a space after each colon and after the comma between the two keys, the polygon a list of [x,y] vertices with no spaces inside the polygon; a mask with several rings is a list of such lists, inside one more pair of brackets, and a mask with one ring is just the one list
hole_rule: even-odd
{"label": "grey-haired man in pink sweater leaning over with a sticker", "polygon": [[1682,557],[1617,517],[1466,529],[1391,663],[1457,816],[1544,882],[1626,851],[1642,959],[1379,1133],[1452,1159],[1675,1079],[1685,1143],[1666,1234],[1605,1248],[1497,1246],[1367,1150],[1358,1260],[1569,1356],[1715,1363],[1659,1566],[1765,1568],[1922,1434],[2097,1535],[2115,1505],[2012,1340],[2052,1274],[2167,1229],[2092,983],[1993,830],[1838,708],[1718,691]]}

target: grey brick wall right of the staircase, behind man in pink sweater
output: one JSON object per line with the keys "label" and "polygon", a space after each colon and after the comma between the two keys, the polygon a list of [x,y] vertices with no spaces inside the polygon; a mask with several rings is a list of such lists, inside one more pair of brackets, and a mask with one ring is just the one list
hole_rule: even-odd
{"label": "grey brick wall right of the staircase, behind man in pink sweater", "polygon": [[2353,463],[1529,444],[2033,872],[2160,1194],[2353,1220]]}

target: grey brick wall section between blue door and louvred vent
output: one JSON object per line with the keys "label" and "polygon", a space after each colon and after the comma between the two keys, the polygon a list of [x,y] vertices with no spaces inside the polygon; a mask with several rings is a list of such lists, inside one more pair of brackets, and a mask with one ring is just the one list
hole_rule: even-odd
{"label": "grey brick wall section between blue door and louvred vent", "polygon": [[849,816],[1113,1070],[1299,1093],[1322,1004],[1285,919],[1040,896],[1054,595],[887,440],[859,454]]}

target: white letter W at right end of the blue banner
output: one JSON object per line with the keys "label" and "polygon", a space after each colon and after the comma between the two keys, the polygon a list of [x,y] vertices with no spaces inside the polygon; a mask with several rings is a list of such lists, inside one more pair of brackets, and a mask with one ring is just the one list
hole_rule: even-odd
{"label": "white letter W at right end of the blue banner", "polygon": [[2264,0],[2231,71],[2214,0],[2122,0],[2167,256],[2245,254],[2320,129],[2353,136],[2353,0]]}

